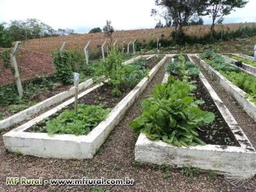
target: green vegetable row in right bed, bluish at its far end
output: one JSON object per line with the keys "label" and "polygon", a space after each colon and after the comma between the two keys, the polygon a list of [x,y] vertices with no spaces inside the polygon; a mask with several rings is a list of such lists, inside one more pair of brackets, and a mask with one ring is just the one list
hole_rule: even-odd
{"label": "green vegetable row in right bed, bluish at its far end", "polygon": [[256,77],[244,73],[236,66],[230,65],[222,55],[215,54],[213,51],[205,51],[200,55],[200,58],[219,71],[234,85],[245,91],[247,93],[245,97],[249,98],[251,102],[256,102]]}

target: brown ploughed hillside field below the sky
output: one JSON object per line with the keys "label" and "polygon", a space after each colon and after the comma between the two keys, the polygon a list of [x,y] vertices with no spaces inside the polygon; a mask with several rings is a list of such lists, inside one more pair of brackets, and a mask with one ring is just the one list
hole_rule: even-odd
{"label": "brown ploughed hillside field below the sky", "polygon": [[[233,31],[237,30],[239,27],[253,26],[255,23],[231,23],[225,25],[215,26],[215,30],[220,31]],[[149,42],[152,39],[170,38],[171,32],[174,28],[158,28],[158,29],[139,29],[139,30],[119,30],[115,31],[113,34],[113,41],[116,41],[116,45],[121,45],[124,41],[130,42],[135,38],[141,42]],[[210,25],[202,26],[189,26],[184,27],[184,31],[188,35],[202,36],[210,32]],[[51,54],[52,51],[60,48],[63,42],[66,42],[67,50],[79,50],[83,51],[84,46],[88,41],[91,41],[89,50],[91,52],[99,51],[103,42],[107,40],[107,45],[110,45],[110,39],[107,38],[103,32],[93,33],[93,34],[78,34],[60,37],[47,37],[39,39],[30,39],[26,42],[22,42],[22,47],[27,51],[37,51],[46,54]]]}

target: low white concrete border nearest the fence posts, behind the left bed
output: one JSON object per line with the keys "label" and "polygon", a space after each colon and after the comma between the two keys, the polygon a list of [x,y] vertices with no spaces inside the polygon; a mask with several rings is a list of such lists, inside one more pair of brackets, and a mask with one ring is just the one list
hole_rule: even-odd
{"label": "low white concrete border nearest the fence posts, behind the left bed", "polygon": [[[138,60],[140,58],[142,58],[141,55],[139,55],[138,57],[132,58],[130,60],[127,60],[127,61],[123,62],[122,64],[123,65],[130,64],[130,63],[132,63],[135,60]],[[87,89],[87,87],[91,86],[92,84],[93,84],[93,79],[90,78],[87,81],[78,85],[78,91],[83,91],[83,90]],[[20,123],[20,122],[24,121],[25,119],[33,116],[34,114],[40,112],[41,110],[43,110],[47,107],[50,107],[50,106],[52,106],[56,103],[59,103],[59,102],[65,100],[65,99],[71,97],[74,94],[75,94],[75,87],[73,86],[67,91],[63,91],[59,94],[56,94],[53,97],[48,98],[44,101],[41,101],[41,102],[37,103],[34,106],[31,106],[31,107],[29,107],[25,110],[20,111],[17,114],[14,114],[10,117],[2,119],[0,121],[0,130],[6,129],[6,128],[14,125],[14,124]]]}

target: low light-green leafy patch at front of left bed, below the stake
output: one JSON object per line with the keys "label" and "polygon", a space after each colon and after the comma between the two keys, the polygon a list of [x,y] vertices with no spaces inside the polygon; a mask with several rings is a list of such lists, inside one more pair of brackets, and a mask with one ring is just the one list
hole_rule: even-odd
{"label": "low light-green leafy patch at front of left bed, below the stake", "polygon": [[78,104],[77,112],[66,109],[58,117],[46,121],[44,129],[49,134],[88,134],[91,129],[103,121],[110,112],[110,109],[103,109],[99,106],[88,106]]}

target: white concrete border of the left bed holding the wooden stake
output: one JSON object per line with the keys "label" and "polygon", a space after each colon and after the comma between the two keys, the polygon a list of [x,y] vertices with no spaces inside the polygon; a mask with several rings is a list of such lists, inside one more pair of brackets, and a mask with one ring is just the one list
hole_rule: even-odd
{"label": "white concrete border of the left bed holding the wooden stake", "polygon": [[[61,105],[47,111],[33,120],[7,132],[3,135],[5,148],[9,151],[20,151],[21,154],[38,157],[53,157],[65,159],[92,158],[107,139],[111,130],[114,129],[125,115],[126,111],[133,105],[140,93],[146,88],[151,79],[161,68],[167,57],[164,57],[158,64],[150,70],[149,75],[144,77],[134,89],[121,100],[114,109],[111,110],[105,121],[102,121],[87,135],[54,134],[25,132],[29,127],[51,116],[58,110],[74,102],[74,98]],[[79,98],[96,89],[96,85],[89,90],[78,95]]]}

